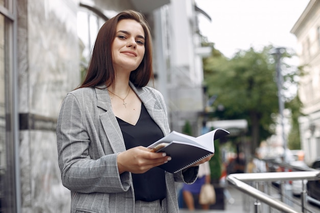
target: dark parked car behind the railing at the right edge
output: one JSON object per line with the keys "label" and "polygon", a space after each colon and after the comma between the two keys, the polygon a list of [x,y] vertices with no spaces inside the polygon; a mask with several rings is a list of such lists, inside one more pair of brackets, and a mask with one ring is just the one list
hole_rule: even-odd
{"label": "dark parked car behind the railing at the right edge", "polygon": [[[311,168],[320,170],[320,158],[316,159]],[[320,180],[310,180],[307,183],[307,200],[320,206]]]}

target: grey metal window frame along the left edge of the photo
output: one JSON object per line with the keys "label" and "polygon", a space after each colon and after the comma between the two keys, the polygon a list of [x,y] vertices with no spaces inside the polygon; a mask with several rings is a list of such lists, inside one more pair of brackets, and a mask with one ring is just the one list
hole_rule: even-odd
{"label": "grey metal window frame along the left edge of the photo", "polygon": [[[4,17],[4,73],[5,80],[5,143],[8,175],[5,176],[5,212],[21,212],[19,129],[17,99],[17,1],[4,0],[0,5],[0,15]],[[9,194],[9,196],[8,196]]]}

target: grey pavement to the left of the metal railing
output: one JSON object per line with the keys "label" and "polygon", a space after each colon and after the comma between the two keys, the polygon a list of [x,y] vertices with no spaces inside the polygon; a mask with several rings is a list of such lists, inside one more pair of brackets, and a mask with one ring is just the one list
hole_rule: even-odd
{"label": "grey pavement to the left of the metal railing", "polygon": [[[245,213],[245,212],[250,212],[248,208],[250,208],[249,205],[249,196],[245,195],[244,193],[240,192],[237,190],[237,188],[233,186],[227,186],[227,190],[231,195],[230,199],[225,199],[225,209],[210,209],[210,210],[201,210],[201,209],[196,209],[196,210],[188,210],[186,208],[180,208],[180,213],[197,213],[197,212],[202,212],[202,213]],[[252,203],[252,202],[250,202]],[[254,206],[252,206],[253,208]]]}

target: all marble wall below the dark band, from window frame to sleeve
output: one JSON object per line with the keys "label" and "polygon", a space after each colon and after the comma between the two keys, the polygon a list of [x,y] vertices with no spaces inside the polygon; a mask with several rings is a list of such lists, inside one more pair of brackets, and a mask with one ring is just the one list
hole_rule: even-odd
{"label": "all marble wall below the dark band, from window frame to sleeve", "polygon": [[56,135],[52,131],[20,133],[22,213],[70,212],[70,191],[61,183]]}

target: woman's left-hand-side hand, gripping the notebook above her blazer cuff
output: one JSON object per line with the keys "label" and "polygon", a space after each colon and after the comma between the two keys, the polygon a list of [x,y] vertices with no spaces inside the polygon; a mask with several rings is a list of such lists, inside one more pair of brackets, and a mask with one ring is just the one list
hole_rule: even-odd
{"label": "woman's left-hand-side hand, gripping the notebook above her blazer cuff", "polygon": [[166,156],[164,152],[154,153],[150,150],[139,146],[119,153],[117,157],[119,174],[124,172],[145,173],[151,168],[171,160],[171,157]]}

